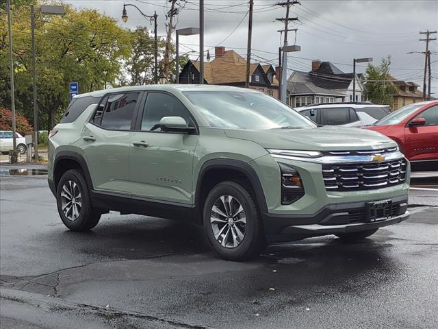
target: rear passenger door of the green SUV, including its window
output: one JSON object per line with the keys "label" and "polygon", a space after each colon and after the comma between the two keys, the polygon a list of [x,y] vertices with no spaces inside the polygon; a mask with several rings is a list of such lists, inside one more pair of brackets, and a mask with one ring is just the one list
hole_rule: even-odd
{"label": "rear passenger door of the green SUV, including its window", "polygon": [[81,134],[81,148],[96,191],[131,194],[129,144],[140,92],[103,97]]}

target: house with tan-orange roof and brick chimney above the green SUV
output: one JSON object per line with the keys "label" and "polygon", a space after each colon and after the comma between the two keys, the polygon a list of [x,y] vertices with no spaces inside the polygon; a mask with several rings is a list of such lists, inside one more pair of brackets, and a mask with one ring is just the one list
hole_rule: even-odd
{"label": "house with tan-orange roof and brick chimney above the green SUV", "polygon": [[[246,59],[234,50],[215,47],[214,60],[204,62],[204,84],[220,84],[244,87],[246,80]],[[179,74],[180,84],[199,83],[199,62],[189,60]],[[250,88],[263,91],[279,98],[279,82],[272,65],[250,64]]]}

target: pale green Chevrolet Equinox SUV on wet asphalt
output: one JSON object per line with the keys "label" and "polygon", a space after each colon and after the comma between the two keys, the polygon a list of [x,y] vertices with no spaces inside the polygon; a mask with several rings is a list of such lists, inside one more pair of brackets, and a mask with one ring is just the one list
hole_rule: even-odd
{"label": "pale green Chevrolet Equinox SUV on wet asphalt", "polygon": [[70,230],[90,230],[110,210],[188,219],[231,260],[399,223],[409,171],[381,134],[317,127],[268,95],[226,86],[78,95],[49,138],[49,186]]}

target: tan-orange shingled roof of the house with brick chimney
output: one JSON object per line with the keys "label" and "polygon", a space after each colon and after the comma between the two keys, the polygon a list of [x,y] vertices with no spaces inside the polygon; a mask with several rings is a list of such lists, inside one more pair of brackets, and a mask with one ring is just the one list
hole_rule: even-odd
{"label": "tan-orange shingled roof of the house with brick chimney", "polygon": [[[192,62],[199,71],[199,62]],[[259,66],[259,63],[250,64],[250,73]],[[268,72],[271,65],[260,65],[264,73]],[[233,84],[245,82],[246,80],[246,59],[234,50],[227,50],[220,57],[214,58],[211,62],[204,62],[204,79],[208,84]],[[272,84],[278,84],[274,79]]]}

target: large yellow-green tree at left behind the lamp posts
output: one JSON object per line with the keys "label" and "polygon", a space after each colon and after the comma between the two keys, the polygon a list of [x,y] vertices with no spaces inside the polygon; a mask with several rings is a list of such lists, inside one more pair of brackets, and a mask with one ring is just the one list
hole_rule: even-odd
{"label": "large yellow-green tree at left behind the lamp posts", "polygon": [[[29,7],[14,7],[12,20],[16,108],[33,122]],[[131,53],[131,34],[96,10],[69,5],[64,16],[37,13],[35,33],[40,129],[50,130],[68,105],[68,82],[79,82],[79,93],[114,84],[123,60]],[[8,61],[7,20],[2,14],[0,104],[5,107],[10,107]]]}

